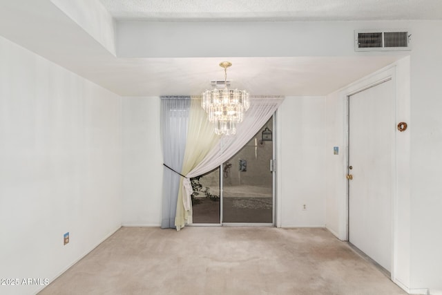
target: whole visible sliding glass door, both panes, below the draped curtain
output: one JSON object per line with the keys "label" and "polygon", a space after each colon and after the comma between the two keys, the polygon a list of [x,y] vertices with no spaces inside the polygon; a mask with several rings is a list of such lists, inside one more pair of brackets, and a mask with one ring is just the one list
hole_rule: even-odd
{"label": "whole visible sliding glass door, both panes, below the draped curtain", "polygon": [[275,224],[273,122],[220,167],[191,179],[193,225]]}

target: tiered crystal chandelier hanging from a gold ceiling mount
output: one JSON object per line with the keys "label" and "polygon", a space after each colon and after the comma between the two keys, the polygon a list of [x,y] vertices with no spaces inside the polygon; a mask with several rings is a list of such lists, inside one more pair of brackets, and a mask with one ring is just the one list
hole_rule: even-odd
{"label": "tiered crystal chandelier hanging from a gold ceiling mount", "polygon": [[244,90],[227,88],[227,68],[231,62],[222,61],[224,68],[224,88],[213,88],[202,93],[201,106],[209,121],[215,126],[218,135],[233,135],[236,133],[236,124],[242,122],[244,112],[249,109],[249,93]]}

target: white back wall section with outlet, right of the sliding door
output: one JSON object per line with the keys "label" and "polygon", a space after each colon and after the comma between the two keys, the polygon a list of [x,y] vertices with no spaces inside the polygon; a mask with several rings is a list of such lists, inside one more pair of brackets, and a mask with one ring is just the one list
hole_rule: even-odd
{"label": "white back wall section with outlet, right of the sliding door", "polygon": [[277,118],[278,226],[324,227],[325,97],[286,97]]}

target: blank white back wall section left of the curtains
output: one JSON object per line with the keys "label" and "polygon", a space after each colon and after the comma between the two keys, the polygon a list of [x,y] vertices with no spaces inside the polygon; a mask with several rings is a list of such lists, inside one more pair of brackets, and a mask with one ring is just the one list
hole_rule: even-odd
{"label": "blank white back wall section left of the curtains", "polygon": [[160,226],[163,157],[160,97],[124,97],[124,226]]}

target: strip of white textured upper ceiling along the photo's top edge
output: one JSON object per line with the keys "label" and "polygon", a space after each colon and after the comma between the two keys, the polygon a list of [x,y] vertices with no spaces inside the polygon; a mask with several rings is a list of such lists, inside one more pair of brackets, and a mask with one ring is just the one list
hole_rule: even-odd
{"label": "strip of white textured upper ceiling along the photo's top edge", "polygon": [[116,19],[345,21],[442,19],[441,0],[100,0]]}

